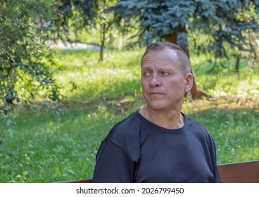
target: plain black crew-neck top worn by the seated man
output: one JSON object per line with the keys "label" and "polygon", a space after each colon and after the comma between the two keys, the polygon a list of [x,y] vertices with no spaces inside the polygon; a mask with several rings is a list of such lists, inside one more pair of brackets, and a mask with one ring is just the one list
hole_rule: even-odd
{"label": "plain black crew-neck top worn by the seated man", "polygon": [[215,143],[187,115],[182,128],[165,129],[137,111],[102,141],[93,182],[220,182]]}

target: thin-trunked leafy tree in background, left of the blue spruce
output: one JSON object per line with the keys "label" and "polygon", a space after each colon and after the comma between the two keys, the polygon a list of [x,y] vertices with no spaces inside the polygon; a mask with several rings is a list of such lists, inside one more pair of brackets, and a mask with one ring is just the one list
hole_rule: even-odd
{"label": "thin-trunked leafy tree in background, left of the blue spruce", "polygon": [[75,27],[76,31],[85,28],[90,32],[89,29],[93,28],[99,32],[100,61],[103,61],[107,34],[113,25],[113,15],[105,12],[105,9],[114,4],[114,0],[63,0],[62,5],[58,8],[64,15],[63,26],[67,30],[69,27]]}

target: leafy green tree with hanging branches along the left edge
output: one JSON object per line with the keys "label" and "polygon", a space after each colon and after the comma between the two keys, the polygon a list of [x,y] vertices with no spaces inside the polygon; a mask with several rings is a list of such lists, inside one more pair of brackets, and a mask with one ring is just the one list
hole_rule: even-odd
{"label": "leafy green tree with hanging branches along the left edge", "polygon": [[35,96],[59,99],[49,65],[53,51],[46,40],[58,28],[56,1],[0,1],[0,117],[15,103],[32,107]]}

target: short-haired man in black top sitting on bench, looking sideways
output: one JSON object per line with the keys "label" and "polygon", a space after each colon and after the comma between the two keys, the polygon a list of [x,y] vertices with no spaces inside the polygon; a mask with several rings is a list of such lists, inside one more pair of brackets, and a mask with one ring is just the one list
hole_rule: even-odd
{"label": "short-haired man in black top sitting on bench, looking sideways", "polygon": [[179,46],[148,46],[141,59],[146,105],[102,141],[93,182],[220,182],[212,137],[181,112],[192,84],[189,58]]}

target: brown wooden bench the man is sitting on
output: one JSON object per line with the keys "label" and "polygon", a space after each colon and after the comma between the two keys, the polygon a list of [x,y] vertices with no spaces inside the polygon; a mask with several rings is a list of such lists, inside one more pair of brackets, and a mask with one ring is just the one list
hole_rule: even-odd
{"label": "brown wooden bench the man is sitting on", "polygon": [[[259,160],[217,165],[223,183],[259,183]],[[79,179],[62,183],[91,183]]]}

